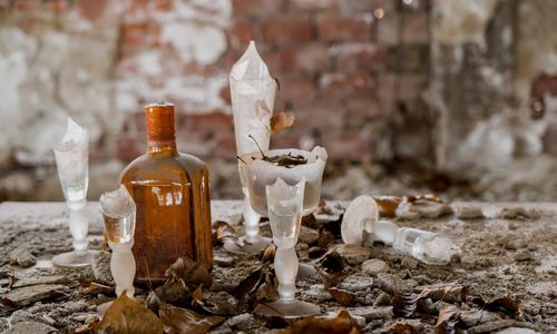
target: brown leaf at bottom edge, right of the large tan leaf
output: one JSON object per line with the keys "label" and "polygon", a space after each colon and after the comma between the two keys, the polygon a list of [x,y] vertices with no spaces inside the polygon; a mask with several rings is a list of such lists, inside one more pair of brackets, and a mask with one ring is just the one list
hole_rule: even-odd
{"label": "brown leaf at bottom edge, right of the large tan leaf", "polygon": [[204,334],[207,333],[211,327],[224,322],[224,317],[222,316],[206,316],[166,303],[160,304],[158,314],[160,315],[164,330],[168,334]]}

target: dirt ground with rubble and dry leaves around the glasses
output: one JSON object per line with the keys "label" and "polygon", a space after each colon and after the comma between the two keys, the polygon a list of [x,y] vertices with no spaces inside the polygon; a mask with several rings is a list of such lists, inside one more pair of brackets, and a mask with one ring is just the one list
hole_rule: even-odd
{"label": "dirt ground with rubble and dry leaves around the glasses", "polygon": [[[342,210],[338,204],[328,206]],[[557,332],[557,205],[460,203],[452,208],[459,213],[462,206],[480,208],[485,217],[468,219],[448,214],[437,218],[393,218],[399,226],[452,238],[461,254],[446,266],[418,263],[382,243],[361,247],[364,250],[343,250],[338,235],[322,243],[321,232],[303,227],[296,249],[300,262],[307,266],[299,273],[299,298],[319,304],[325,317],[334,317],[334,312],[346,308],[364,333],[402,333],[397,332],[398,324],[410,326],[414,333],[432,333],[443,308],[457,310],[452,326],[469,333]],[[91,248],[100,249],[102,228],[97,204],[90,204],[87,210]],[[240,222],[240,210],[238,202],[213,203],[213,218],[233,226]],[[71,249],[71,236],[65,225],[67,214],[63,204],[0,205],[3,293],[0,332],[18,323],[32,322],[72,333],[97,321],[100,316],[96,306],[115,297],[111,289],[91,291],[87,283],[98,282],[99,277],[90,267],[51,266],[52,255]],[[330,227],[340,224],[335,216],[329,220]],[[262,223],[262,234],[271,236],[268,224]],[[351,296],[351,301],[344,303],[348,306],[325,289],[319,273],[328,269],[320,255],[333,248],[345,263],[343,279],[335,281],[335,287]],[[26,258],[29,261],[26,254],[32,255],[35,265],[22,268],[10,264],[18,259],[25,264]],[[266,333],[289,325],[253,315],[251,296],[240,299],[233,296],[237,285],[268,261],[231,254],[222,246],[215,248],[215,259],[214,284],[204,296],[219,308],[226,321],[212,332]],[[429,293],[418,297],[424,291]],[[138,288],[138,301],[147,293],[146,288]],[[404,296],[412,296],[414,302],[404,302]],[[514,328],[522,332],[512,332]]]}

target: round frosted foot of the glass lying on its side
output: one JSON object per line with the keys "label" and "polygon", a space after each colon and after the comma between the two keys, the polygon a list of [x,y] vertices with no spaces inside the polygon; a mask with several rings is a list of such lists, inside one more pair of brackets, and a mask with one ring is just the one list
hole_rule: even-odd
{"label": "round frosted foot of the glass lying on its side", "polygon": [[346,245],[361,245],[364,232],[372,233],[373,224],[379,219],[379,207],[375,200],[365,195],[352,200],[342,217],[341,236]]}

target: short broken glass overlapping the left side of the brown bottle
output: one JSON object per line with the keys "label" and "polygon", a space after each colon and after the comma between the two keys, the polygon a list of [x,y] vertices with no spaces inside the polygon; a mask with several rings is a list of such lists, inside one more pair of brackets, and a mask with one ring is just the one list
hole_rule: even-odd
{"label": "short broken glass overlapping the left side of the brown bottle", "polygon": [[114,191],[102,194],[99,202],[108,245],[113,249],[110,272],[116,283],[116,294],[119,296],[126,291],[126,294],[133,297],[136,262],[131,246],[136,225],[136,205],[123,185]]}

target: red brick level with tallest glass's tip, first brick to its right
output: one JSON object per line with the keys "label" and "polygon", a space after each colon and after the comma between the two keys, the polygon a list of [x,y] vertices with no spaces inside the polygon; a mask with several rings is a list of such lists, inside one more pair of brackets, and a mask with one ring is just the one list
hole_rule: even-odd
{"label": "red brick level with tallest glass's tip, first brick to its right", "polygon": [[321,72],[331,68],[329,50],[321,43],[283,48],[280,55],[283,71]]}

